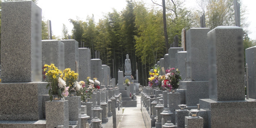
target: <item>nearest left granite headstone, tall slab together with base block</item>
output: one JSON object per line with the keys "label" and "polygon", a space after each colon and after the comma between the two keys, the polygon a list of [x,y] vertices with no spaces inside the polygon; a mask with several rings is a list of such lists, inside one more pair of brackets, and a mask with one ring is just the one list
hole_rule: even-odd
{"label": "nearest left granite headstone, tall slab together with base block", "polygon": [[32,1],[1,7],[0,120],[42,119],[42,10]]}

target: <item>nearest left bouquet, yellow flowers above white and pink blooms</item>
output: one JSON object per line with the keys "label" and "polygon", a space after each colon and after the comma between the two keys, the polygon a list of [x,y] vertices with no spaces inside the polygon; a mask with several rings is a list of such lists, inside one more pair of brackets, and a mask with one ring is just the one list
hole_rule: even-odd
{"label": "nearest left bouquet, yellow flowers above white and pink blooms", "polygon": [[53,64],[44,65],[44,72],[47,76],[46,81],[49,82],[46,88],[49,89],[49,96],[52,100],[60,100],[62,96],[68,96],[68,88],[66,87],[66,82],[62,80],[63,74],[57,67]]}

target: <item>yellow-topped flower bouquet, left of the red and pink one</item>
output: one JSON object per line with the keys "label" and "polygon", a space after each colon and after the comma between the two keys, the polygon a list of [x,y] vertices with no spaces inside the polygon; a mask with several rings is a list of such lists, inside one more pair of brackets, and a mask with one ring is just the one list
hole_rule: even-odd
{"label": "yellow-topped flower bouquet, left of the red and pink one", "polygon": [[161,88],[161,81],[162,81],[162,76],[159,75],[160,72],[160,67],[156,67],[153,69],[153,72],[149,72],[150,78],[148,78],[148,86],[151,88],[157,87]]}

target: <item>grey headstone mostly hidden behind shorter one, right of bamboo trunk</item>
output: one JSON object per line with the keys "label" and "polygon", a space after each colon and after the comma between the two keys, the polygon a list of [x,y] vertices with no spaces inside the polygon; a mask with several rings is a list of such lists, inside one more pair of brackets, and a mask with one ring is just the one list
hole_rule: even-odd
{"label": "grey headstone mostly hidden behind shorter one, right of bamboo trunk", "polygon": [[169,55],[168,58],[169,58],[169,63],[170,63],[169,68],[175,68],[176,67],[175,54],[177,52],[180,52],[180,51],[183,51],[182,47],[171,47],[171,48],[169,48],[169,50],[168,50],[168,55]]}

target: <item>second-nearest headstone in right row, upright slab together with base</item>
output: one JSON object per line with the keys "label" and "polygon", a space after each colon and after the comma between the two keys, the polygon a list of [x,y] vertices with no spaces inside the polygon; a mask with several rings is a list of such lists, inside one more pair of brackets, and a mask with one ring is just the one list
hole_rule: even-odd
{"label": "second-nearest headstone in right row, upright slab together with base", "polygon": [[[186,33],[186,79],[180,82],[186,89],[185,102],[196,106],[208,93],[208,28],[192,28]],[[184,87],[185,86],[185,87]],[[190,108],[188,108],[190,109]]]}

